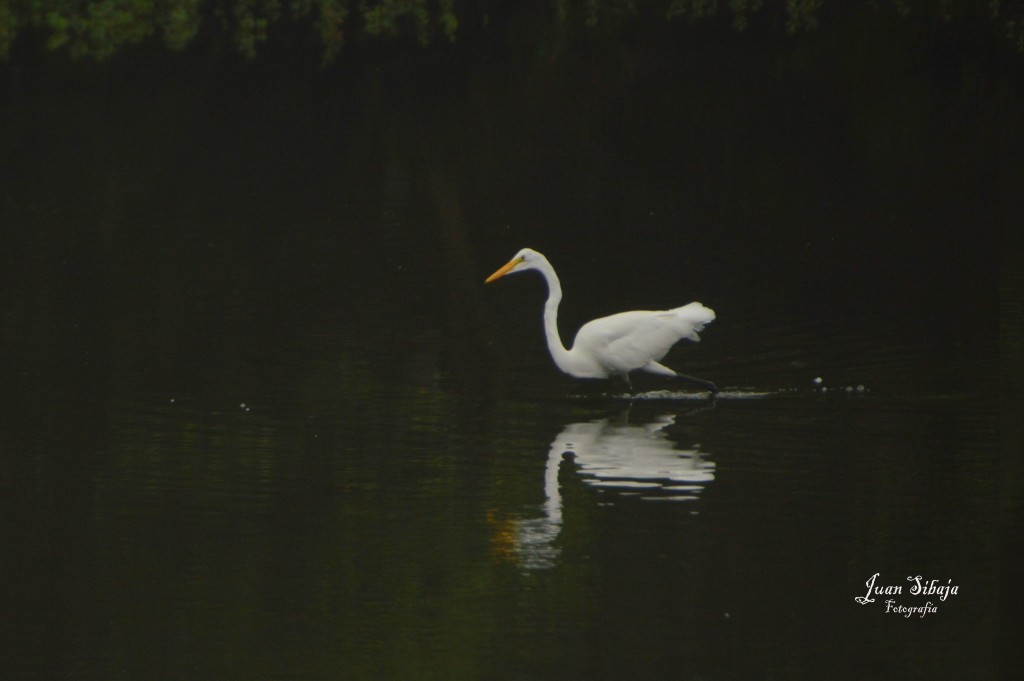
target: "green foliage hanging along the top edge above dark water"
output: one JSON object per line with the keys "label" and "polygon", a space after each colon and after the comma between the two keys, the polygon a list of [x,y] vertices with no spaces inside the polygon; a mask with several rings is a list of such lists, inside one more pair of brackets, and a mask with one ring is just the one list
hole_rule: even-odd
{"label": "green foliage hanging along the top edge above dark water", "polygon": [[[995,25],[995,36],[1024,52],[1024,1],[874,0],[879,11],[907,20],[939,19],[950,24],[983,17]],[[385,39],[412,38],[428,45],[440,38],[455,41],[466,26],[487,25],[487,16],[516,0],[0,0],[0,57],[28,29],[41,32],[49,49],[68,50],[76,57],[104,59],[119,49],[154,38],[167,47],[184,49],[200,27],[218,22],[240,52],[254,56],[283,20],[309,23],[324,46],[326,61],[334,58],[354,30]],[[553,23],[579,22],[592,29],[614,30],[638,14],[667,20],[699,22],[725,14],[737,31],[763,13],[779,17],[787,33],[813,30],[824,0],[550,0]],[[467,24],[467,19],[475,19]]]}

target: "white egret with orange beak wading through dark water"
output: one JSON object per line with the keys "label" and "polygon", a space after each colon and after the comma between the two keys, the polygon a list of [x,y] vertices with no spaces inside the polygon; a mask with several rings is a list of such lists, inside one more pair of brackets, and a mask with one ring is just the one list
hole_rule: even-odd
{"label": "white egret with orange beak wading through dark water", "polygon": [[658,364],[681,338],[700,340],[698,332],[715,320],[715,311],[700,303],[690,303],[670,310],[635,310],[588,322],[577,332],[568,350],[558,335],[558,303],[562,287],[555,268],[541,253],[524,248],[507,264],[485,280],[489,284],[512,272],[536,269],[548,283],[548,301],[544,304],[544,334],[555,366],[575,378],[622,377],[632,388],[630,372],[645,371],[672,376],[700,385],[718,394],[711,381],[680,374]]}

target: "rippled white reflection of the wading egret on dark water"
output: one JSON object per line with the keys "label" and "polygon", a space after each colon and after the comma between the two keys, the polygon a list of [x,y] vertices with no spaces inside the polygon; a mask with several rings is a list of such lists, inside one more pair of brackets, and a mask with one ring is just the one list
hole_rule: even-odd
{"label": "rippled white reflection of the wading egret on dark water", "polygon": [[548,450],[544,473],[545,502],[541,517],[514,523],[514,553],[524,569],[552,567],[562,529],[560,472],[563,463],[584,483],[620,496],[643,500],[692,501],[715,479],[715,463],[698,445],[689,449],[665,429],[676,422],[665,415],[643,424],[628,417],[570,423]]}

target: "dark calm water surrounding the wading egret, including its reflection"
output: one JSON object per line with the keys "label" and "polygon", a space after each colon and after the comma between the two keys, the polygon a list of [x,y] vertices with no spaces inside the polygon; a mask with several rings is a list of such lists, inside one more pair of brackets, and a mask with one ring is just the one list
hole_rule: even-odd
{"label": "dark calm water surrounding the wading egret, including its reflection", "polygon": [[[144,56],[3,67],[9,678],[999,678],[1019,66]],[[722,396],[559,376],[523,246]]]}

